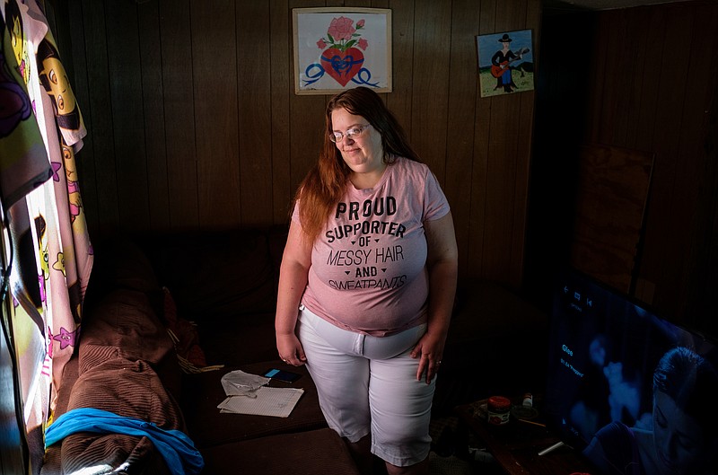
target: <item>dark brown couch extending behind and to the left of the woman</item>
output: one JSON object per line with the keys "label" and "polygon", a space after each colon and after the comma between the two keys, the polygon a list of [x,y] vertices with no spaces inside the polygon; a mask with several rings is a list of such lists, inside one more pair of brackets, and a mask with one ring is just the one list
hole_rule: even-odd
{"label": "dark brown couch extending behind and to the left of the woman", "polygon": [[[311,376],[275,347],[274,309],[285,226],[211,233],[122,236],[95,246],[80,343],[66,365],[55,418],[99,408],[187,434],[206,474],[358,474],[327,427]],[[536,391],[547,318],[518,295],[462,281],[433,411],[495,391]],[[528,363],[522,358],[533,358]],[[518,362],[518,364],[517,364]],[[540,365],[538,365],[540,367]],[[221,378],[268,368],[302,374],[287,418],[221,413]],[[131,473],[170,473],[145,437],[78,433],[48,447],[43,473],[127,463]],[[187,467],[184,467],[187,469]]]}

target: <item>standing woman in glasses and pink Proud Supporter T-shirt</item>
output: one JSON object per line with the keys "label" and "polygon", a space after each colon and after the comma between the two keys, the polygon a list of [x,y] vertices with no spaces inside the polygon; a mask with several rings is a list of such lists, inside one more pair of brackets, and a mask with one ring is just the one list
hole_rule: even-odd
{"label": "standing woman in glasses and pink Proud Supporter T-shirt", "polygon": [[307,365],[329,427],[363,471],[428,473],[429,418],[456,291],[437,180],[376,92],[327,105],[319,163],[294,200],[276,347]]}

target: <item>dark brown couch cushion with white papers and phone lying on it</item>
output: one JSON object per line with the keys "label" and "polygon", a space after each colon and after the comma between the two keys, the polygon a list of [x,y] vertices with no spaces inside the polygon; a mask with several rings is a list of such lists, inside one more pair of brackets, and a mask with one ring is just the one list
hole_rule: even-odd
{"label": "dark brown couch cushion with white papers and phone lying on it", "polygon": [[[220,413],[217,405],[226,395],[222,376],[235,369],[250,374],[264,374],[267,369],[279,368],[301,373],[294,383],[272,380],[270,386],[302,388],[304,393],[288,418],[250,416],[246,414]],[[274,435],[280,432],[297,432],[327,427],[321,413],[317,388],[303,366],[293,367],[281,361],[269,361],[239,367],[225,367],[220,371],[188,374],[185,378],[183,407],[188,434],[197,448],[239,442],[250,438]],[[252,473],[251,471],[249,473]]]}

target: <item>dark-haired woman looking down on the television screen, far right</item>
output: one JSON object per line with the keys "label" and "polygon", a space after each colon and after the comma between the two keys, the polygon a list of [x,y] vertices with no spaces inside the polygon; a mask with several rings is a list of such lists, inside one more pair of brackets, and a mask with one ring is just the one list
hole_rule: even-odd
{"label": "dark-haired woman looking down on the television screen, far right", "polygon": [[687,347],[670,349],[653,373],[652,429],[614,421],[583,451],[604,473],[707,475],[715,473],[718,375]]}

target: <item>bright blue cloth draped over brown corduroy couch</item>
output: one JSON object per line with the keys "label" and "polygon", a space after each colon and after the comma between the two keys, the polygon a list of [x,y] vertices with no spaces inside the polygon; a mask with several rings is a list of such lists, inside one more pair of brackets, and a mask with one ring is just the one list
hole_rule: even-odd
{"label": "bright blue cloth draped over brown corduroy couch", "polygon": [[147,437],[162,453],[170,471],[176,475],[197,474],[205,466],[202,454],[182,431],[165,430],[146,420],[123,418],[113,412],[93,408],[72,409],[57,418],[45,430],[46,449],[77,432]]}

